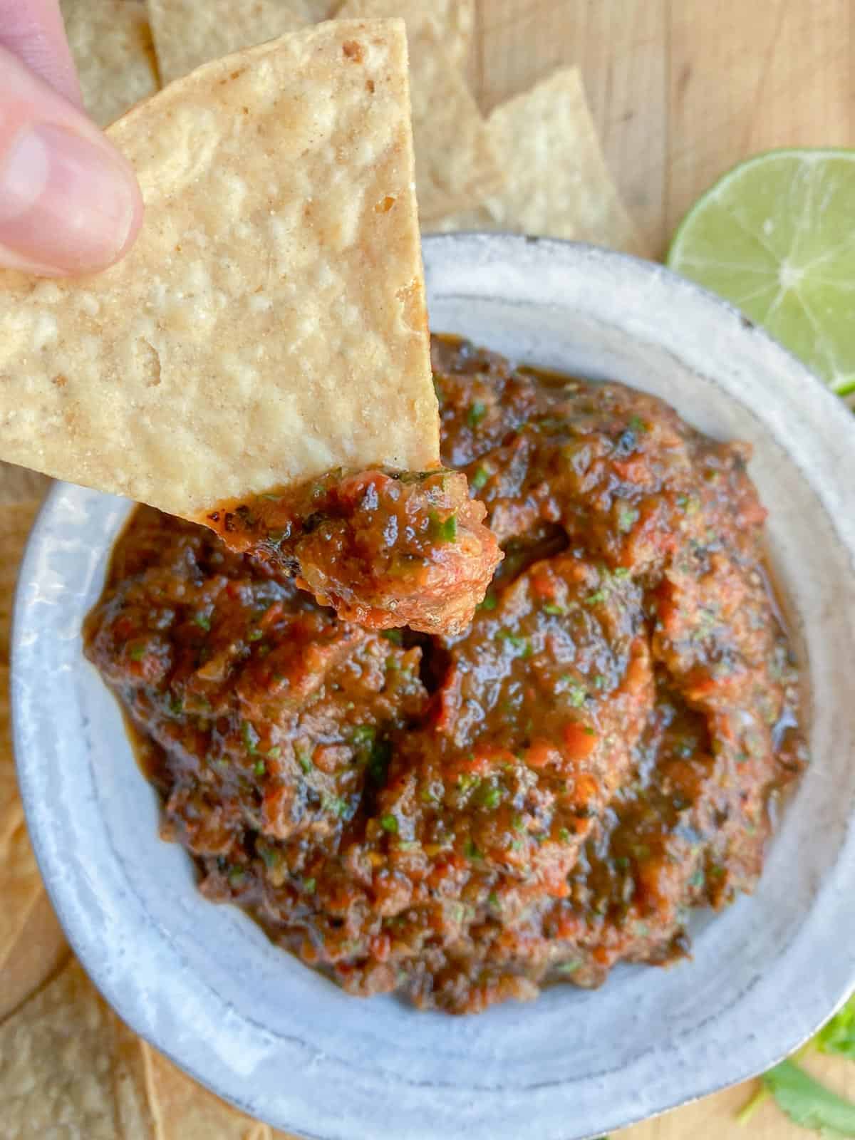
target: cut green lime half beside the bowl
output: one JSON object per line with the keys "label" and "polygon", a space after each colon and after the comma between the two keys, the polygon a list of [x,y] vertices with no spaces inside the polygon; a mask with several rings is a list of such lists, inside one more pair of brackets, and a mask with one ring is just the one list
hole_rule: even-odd
{"label": "cut green lime half beside the bowl", "polygon": [[855,150],[769,150],[734,166],[683,219],[667,263],[855,394]]}

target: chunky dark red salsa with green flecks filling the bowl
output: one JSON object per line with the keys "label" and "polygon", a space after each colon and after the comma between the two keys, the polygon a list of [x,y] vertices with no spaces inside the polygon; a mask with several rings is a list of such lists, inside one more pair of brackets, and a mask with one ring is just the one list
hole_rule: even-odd
{"label": "chunky dark red salsa with green flecks filling the bowl", "polygon": [[140,507],[85,640],[209,898],[350,993],[462,1013],[684,958],[691,909],[757,881],[806,752],[748,448],[467,343],[434,339],[433,367],[475,513],[448,472],[356,498],[331,475],[317,500],[336,545],[340,502],[369,494],[376,532],[435,495],[422,568],[453,514],[486,523],[504,559],[471,621],[383,628],[388,563],[357,602],[347,557],[334,586],[306,571],[323,544],[283,568],[270,499],[246,553]]}

